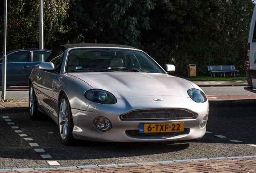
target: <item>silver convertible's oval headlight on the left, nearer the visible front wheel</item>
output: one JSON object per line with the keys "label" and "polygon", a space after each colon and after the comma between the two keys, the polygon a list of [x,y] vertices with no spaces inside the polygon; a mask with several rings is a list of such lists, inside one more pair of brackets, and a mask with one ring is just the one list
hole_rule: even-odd
{"label": "silver convertible's oval headlight on the left, nearer the visible front wheel", "polygon": [[87,98],[90,101],[96,102],[96,103],[102,103],[102,104],[115,104],[116,98],[111,93],[99,90],[99,89],[93,89],[89,90],[85,93],[85,98]]}

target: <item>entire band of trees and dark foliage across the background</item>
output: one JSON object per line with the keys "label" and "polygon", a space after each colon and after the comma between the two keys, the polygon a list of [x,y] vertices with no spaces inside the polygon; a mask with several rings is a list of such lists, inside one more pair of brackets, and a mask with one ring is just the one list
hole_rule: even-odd
{"label": "entire band of trees and dark foliage across the background", "polygon": [[[0,52],[4,0],[0,3]],[[44,48],[111,43],[140,48],[187,76],[196,64],[234,64],[245,74],[252,0],[43,0]],[[7,51],[39,47],[39,1],[8,0]]]}

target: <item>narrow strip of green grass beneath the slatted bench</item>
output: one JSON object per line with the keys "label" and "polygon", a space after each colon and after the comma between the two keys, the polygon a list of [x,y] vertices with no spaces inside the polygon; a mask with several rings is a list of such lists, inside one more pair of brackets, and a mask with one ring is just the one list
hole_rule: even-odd
{"label": "narrow strip of green grass beneath the slatted bench", "polygon": [[190,81],[229,81],[229,80],[246,80],[246,76],[238,77],[183,77]]}

